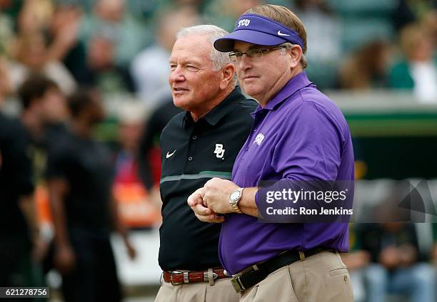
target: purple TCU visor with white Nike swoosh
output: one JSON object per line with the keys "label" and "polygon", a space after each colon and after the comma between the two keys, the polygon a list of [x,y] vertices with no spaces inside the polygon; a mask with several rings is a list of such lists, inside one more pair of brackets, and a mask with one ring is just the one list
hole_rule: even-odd
{"label": "purple TCU visor with white Nike swoosh", "polygon": [[218,51],[233,51],[233,43],[243,41],[247,43],[273,46],[290,42],[301,46],[303,41],[296,31],[263,16],[256,14],[241,15],[236,21],[233,32],[218,38],[214,42],[214,48]]}

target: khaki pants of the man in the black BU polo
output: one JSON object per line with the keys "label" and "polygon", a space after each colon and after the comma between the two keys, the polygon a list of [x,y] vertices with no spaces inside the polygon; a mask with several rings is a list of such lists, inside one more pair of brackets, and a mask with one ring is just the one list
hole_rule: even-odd
{"label": "khaki pants of the man in the black BU polo", "polygon": [[233,290],[229,278],[208,282],[171,285],[164,282],[155,302],[238,302],[239,294]]}

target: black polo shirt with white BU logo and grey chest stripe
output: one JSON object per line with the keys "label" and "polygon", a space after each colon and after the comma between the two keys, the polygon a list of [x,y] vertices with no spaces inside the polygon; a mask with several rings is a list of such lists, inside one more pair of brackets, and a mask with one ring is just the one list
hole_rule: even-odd
{"label": "black polo shirt with white BU logo and grey chest stripe", "polygon": [[256,102],[235,88],[220,104],[194,123],[179,113],[161,135],[159,265],[164,270],[203,270],[221,266],[221,224],[200,222],[186,199],[213,177],[231,179],[233,162],[251,130]]}

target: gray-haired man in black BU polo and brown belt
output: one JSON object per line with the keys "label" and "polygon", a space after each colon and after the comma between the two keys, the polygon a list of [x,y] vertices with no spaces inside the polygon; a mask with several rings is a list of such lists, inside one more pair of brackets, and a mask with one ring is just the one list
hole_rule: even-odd
{"label": "gray-haired man in black BU polo and brown belt", "polygon": [[183,28],[169,66],[174,105],[184,110],[161,134],[159,266],[156,302],[238,301],[218,259],[220,224],[196,219],[186,199],[212,177],[229,178],[250,131],[255,102],[236,87],[228,53],[213,48],[226,31],[213,25]]}

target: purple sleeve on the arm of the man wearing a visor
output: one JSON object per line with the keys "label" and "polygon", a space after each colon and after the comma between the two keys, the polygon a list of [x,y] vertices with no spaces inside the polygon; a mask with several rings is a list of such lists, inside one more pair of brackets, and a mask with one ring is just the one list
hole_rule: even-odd
{"label": "purple sleeve on the arm of the man wearing a visor", "polygon": [[255,197],[258,209],[266,207],[268,192],[326,190],[337,178],[345,142],[341,124],[328,108],[311,101],[293,108],[289,116],[288,124],[281,128],[273,143],[271,167],[281,179],[258,189]]}

